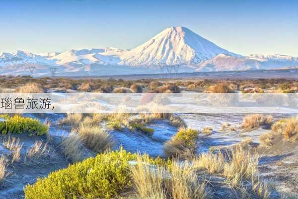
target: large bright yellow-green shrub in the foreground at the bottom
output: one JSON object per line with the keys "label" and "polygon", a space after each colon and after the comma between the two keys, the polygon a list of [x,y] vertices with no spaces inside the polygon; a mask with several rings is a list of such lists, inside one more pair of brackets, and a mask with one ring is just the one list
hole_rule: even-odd
{"label": "large bright yellow-green shrub in the foreground at the bottom", "polygon": [[[27,185],[25,199],[110,199],[118,196],[131,188],[129,161],[137,160],[137,156],[123,149],[98,154]],[[151,159],[148,155],[143,155],[142,160],[167,165],[161,158]]]}

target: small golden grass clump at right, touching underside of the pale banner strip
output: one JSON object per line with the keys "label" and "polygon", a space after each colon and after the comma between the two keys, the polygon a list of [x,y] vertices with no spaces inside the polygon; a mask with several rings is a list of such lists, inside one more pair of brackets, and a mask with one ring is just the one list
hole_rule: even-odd
{"label": "small golden grass clump at right, touching underside of the pale banner strip", "polygon": [[259,128],[261,125],[271,125],[273,118],[271,115],[250,114],[243,118],[241,128],[243,130],[252,130]]}

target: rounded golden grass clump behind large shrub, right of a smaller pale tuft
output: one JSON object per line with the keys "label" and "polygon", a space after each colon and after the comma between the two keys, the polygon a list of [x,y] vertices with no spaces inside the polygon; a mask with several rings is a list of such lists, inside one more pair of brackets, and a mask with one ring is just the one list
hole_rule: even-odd
{"label": "rounded golden grass clump behind large shrub, right of a smaller pale tuft", "polygon": [[93,151],[103,152],[113,145],[111,135],[100,126],[80,125],[77,133],[85,146]]}

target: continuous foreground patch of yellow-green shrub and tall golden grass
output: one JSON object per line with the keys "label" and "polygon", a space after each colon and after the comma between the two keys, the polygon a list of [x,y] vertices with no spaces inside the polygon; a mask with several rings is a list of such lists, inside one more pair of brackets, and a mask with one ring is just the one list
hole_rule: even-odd
{"label": "continuous foreground patch of yellow-green shrub and tall golden grass", "polygon": [[[256,154],[240,146],[216,154],[203,153],[183,164],[176,159],[151,159],[148,155],[120,149],[98,154],[39,178],[33,185],[27,185],[24,192],[26,199],[36,196],[40,199],[123,196],[132,199],[219,196],[269,199],[272,190],[259,180],[258,161]],[[213,182],[211,175],[223,180]]]}

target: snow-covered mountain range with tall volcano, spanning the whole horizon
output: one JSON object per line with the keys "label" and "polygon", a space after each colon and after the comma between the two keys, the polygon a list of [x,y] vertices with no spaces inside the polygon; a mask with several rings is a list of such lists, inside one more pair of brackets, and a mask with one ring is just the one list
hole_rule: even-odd
{"label": "snow-covered mountain range with tall volcano, spanning the whole horizon", "polygon": [[179,66],[178,72],[235,71],[287,68],[298,65],[298,57],[229,52],[185,27],[170,27],[132,49],[69,50],[33,54],[17,51],[0,54],[4,75],[122,75],[159,73],[163,67]]}

